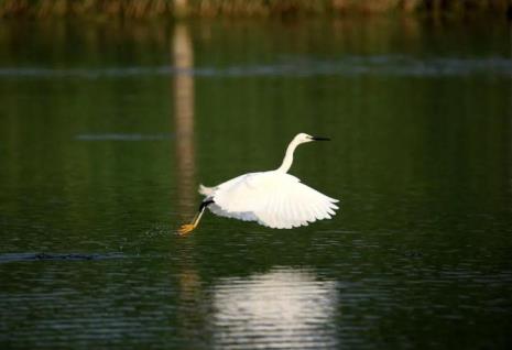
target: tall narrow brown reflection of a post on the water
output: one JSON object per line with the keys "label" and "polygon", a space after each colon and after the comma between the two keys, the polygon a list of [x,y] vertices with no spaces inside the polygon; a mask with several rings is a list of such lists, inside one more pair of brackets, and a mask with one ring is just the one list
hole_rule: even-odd
{"label": "tall narrow brown reflection of a post on the water", "polygon": [[194,151],[194,52],[188,26],[178,23],[174,28],[173,58],[176,67],[174,76],[174,119],[177,204],[182,214],[189,215],[195,198],[195,151]]}

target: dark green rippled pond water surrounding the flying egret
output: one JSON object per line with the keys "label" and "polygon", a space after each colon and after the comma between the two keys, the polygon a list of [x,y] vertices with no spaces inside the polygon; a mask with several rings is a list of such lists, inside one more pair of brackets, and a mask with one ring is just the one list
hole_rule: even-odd
{"label": "dark green rippled pond water surrounding the flying egret", "polygon": [[[498,19],[0,23],[0,346],[512,346],[511,35]],[[207,215],[279,166],[341,199]]]}

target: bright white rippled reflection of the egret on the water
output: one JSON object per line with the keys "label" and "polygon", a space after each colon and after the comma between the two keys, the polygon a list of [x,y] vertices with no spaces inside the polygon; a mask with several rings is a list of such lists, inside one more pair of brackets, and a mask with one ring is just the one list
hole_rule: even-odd
{"label": "bright white rippled reflection of the egret on the water", "polygon": [[335,348],[336,284],[314,273],[274,270],[221,280],[214,291],[218,348]]}

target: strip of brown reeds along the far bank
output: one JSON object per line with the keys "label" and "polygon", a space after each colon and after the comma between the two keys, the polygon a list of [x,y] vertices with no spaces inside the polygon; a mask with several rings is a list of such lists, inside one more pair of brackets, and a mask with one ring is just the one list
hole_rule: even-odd
{"label": "strip of brown reeds along the far bank", "polygon": [[0,0],[0,17],[14,15],[283,15],[390,11],[509,12],[509,0]]}

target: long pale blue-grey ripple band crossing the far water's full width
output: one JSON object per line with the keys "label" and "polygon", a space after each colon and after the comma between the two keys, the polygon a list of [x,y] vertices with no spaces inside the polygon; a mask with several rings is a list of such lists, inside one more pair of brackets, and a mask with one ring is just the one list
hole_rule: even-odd
{"label": "long pale blue-grey ripple band crossing the far water's full width", "polygon": [[512,61],[505,57],[426,57],[406,55],[344,56],[338,59],[284,57],[275,63],[231,65],[227,67],[195,67],[192,69],[164,66],[132,66],[105,68],[3,67],[0,78],[123,78],[139,76],[189,75],[203,77],[250,76],[408,76],[457,77],[471,75],[512,77]]}

